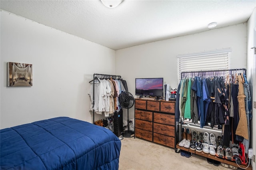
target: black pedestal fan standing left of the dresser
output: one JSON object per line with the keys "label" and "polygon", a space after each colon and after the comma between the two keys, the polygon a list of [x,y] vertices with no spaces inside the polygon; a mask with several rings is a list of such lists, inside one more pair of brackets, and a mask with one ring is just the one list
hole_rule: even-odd
{"label": "black pedestal fan standing left of the dresser", "polygon": [[127,114],[128,114],[128,118],[127,118],[127,127],[128,130],[125,130],[123,132],[123,136],[126,138],[130,138],[132,137],[131,135],[134,134],[134,131],[130,130],[130,126],[129,126],[129,109],[134,105],[134,97],[132,96],[131,93],[124,91],[119,95],[119,99],[118,99],[120,105],[124,108],[127,109]]}

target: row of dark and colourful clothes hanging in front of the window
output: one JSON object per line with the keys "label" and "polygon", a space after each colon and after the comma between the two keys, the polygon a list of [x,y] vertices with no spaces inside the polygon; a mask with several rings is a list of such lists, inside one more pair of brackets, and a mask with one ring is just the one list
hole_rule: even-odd
{"label": "row of dark and colourful clothes hanging in front of the window", "polygon": [[[242,70],[242,73],[237,73]],[[175,118],[200,120],[200,127],[222,125],[224,146],[230,141],[244,142],[248,153],[250,142],[251,97],[244,69],[231,69],[224,72],[209,71],[212,74],[182,76],[176,98]],[[224,73],[224,74],[223,74]],[[189,77],[193,75],[193,77]],[[191,84],[190,84],[191,83]],[[190,102],[188,102],[190,101]],[[177,106],[178,105],[178,106]],[[190,108],[190,115],[188,114]],[[176,116],[176,113],[179,116]]]}

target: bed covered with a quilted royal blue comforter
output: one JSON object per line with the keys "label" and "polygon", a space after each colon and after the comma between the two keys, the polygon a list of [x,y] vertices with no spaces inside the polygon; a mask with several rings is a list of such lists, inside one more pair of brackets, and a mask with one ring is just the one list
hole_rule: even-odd
{"label": "bed covered with a quilted royal blue comforter", "polygon": [[118,170],[121,141],[110,130],[56,117],[0,130],[1,170]]}

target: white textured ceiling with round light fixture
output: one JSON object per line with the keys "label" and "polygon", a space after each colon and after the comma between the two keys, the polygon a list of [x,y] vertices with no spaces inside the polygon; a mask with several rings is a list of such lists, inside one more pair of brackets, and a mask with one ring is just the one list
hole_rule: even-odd
{"label": "white textured ceiling with round light fixture", "polygon": [[111,49],[122,49],[246,22],[256,0],[1,0],[0,8]]}

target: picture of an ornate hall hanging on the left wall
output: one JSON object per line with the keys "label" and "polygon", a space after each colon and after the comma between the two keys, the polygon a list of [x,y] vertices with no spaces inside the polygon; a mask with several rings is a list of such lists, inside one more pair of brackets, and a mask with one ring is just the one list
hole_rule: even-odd
{"label": "picture of an ornate hall hanging on the left wall", "polygon": [[32,64],[8,62],[7,86],[32,86]]}

